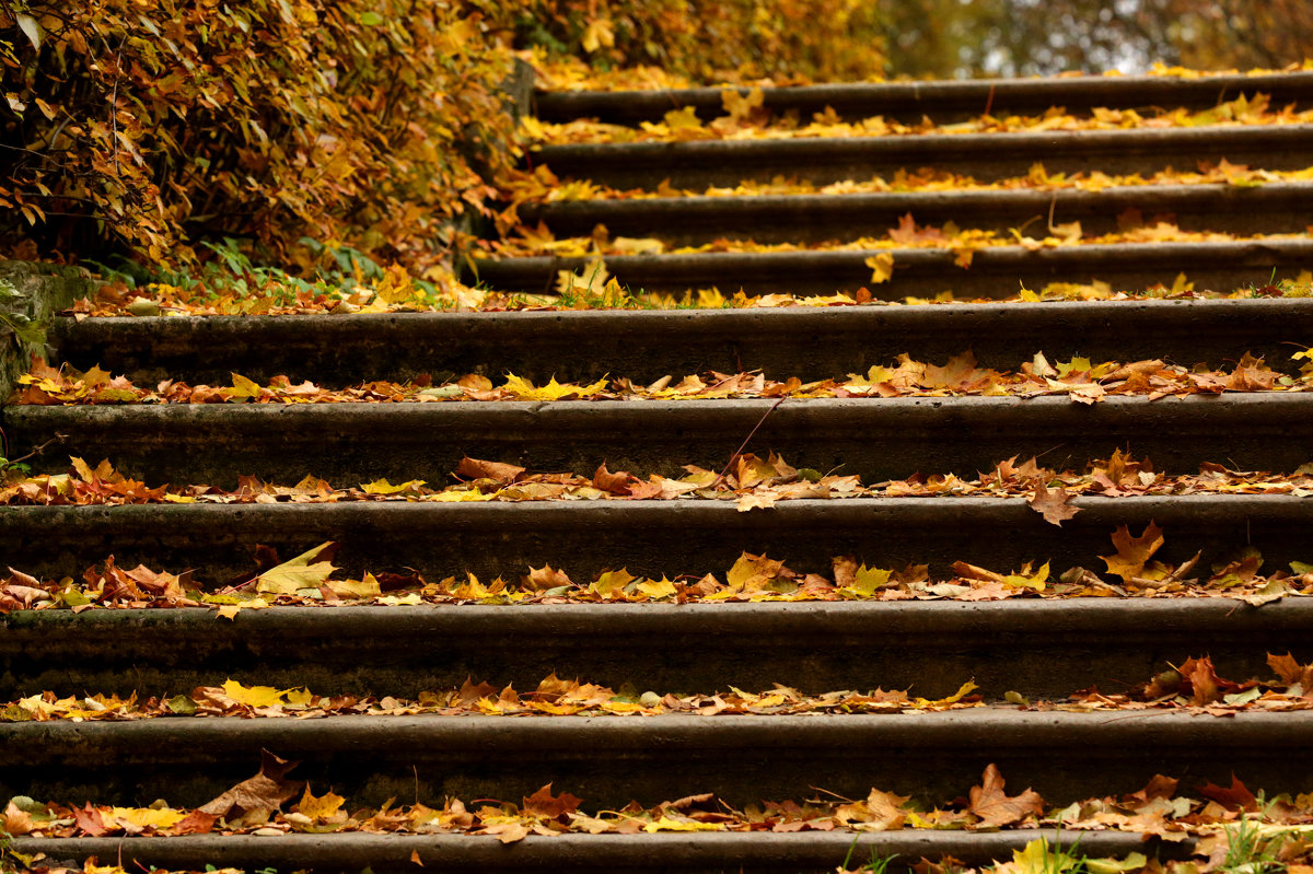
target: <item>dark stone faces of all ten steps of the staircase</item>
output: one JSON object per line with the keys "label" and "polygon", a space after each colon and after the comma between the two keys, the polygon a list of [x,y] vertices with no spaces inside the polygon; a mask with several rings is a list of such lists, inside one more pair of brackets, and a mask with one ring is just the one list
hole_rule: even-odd
{"label": "dark stone faces of all ten steps of the staircase", "polygon": [[[804,114],[881,113],[951,122],[978,114],[1071,113],[1096,106],[1203,110],[1241,93],[1274,105],[1313,104],[1313,73],[1264,77],[1057,79],[999,83],[831,85],[765,93],[765,105]],[[541,118],[635,123],[692,105],[710,117],[714,89],[540,94]],[[1313,131],[1300,125],[924,134],[890,138],[551,146],[530,155],[562,178],[655,189],[783,172],[835,181],[934,164],[977,178],[1102,169],[1152,173],[1225,159],[1268,169],[1313,165]],[[961,297],[1014,295],[1020,282],[1103,280],[1115,287],[1266,286],[1313,266],[1313,184],[1155,185],[1037,194],[1024,190],[835,196],[687,197],[525,205],[521,217],[559,236],[613,234],[681,245],[717,236],[815,241],[878,234],[911,213],[918,222],[1015,227],[1033,215],[1111,228],[1116,215],[1174,213],[1182,227],[1295,236],[1258,241],[1137,243],[1067,248],[995,247],[969,270],[945,249],[893,252],[874,293],[898,299],[953,289]],[[855,290],[869,282],[871,251],[634,255],[607,259],[633,289],[717,286],[748,293]],[[482,282],[536,293],[580,259],[532,256],[478,264]],[[538,311],[273,318],[63,320],[55,358],[100,365],[139,385],[161,378],[256,382],[286,374],[344,386],[365,379],[435,381],[513,371],[536,381],[611,374],[634,382],[687,373],[763,369],[821,379],[863,373],[899,353],[923,361],[972,349],[986,366],[1050,360],[1163,358],[1234,362],[1266,356],[1297,370],[1291,352],[1313,337],[1313,299],[1173,299],[957,303],[924,307],[785,307],[723,311]],[[1293,345],[1292,345],[1293,344]],[[256,475],[291,484],[377,478],[442,482],[462,457],[540,471],[672,474],[718,470],[747,450],[781,453],[798,467],[842,468],[864,482],[924,474],[972,476],[1019,455],[1081,467],[1115,450],[1158,470],[1195,472],[1218,462],[1293,471],[1313,446],[1313,396],[772,399],[587,403],[81,406],[3,409],[12,455],[49,440],[58,454],[108,457],[151,484],[236,486]],[[754,430],[755,429],[755,430]],[[77,576],[113,554],[121,567],[194,568],[222,583],[249,572],[257,545],[284,558],[341,543],[352,572],[414,568],[425,579],[471,571],[513,579],[550,563],[575,579],[603,568],[674,577],[721,572],[741,552],[821,571],[851,554],[874,567],[926,563],[951,575],[968,560],[1016,568],[1100,567],[1119,525],[1166,533],[1159,558],[1200,567],[1246,546],[1266,567],[1309,559],[1306,499],[1197,493],[1078,497],[1081,513],[1050,525],[1023,499],[802,499],[739,512],[733,501],[269,503],[134,507],[3,507],[0,554],[14,568]],[[1313,659],[1313,604],[1262,606],[1228,598],[1010,598],[760,604],[527,604],[272,608],[234,621],[213,610],[12,612],[0,615],[5,699],[59,694],[177,694],[226,678],[323,694],[415,697],[467,677],[532,689],[555,672],[634,690],[714,692],[779,682],[805,692],[911,688],[944,697],[974,678],[986,701],[1006,693],[1061,699],[1091,685],[1142,684],[1167,663],[1211,655],[1221,673],[1249,676],[1267,652]],[[716,793],[730,804],[850,798],[872,786],[944,802],[966,793],[989,764],[1008,786],[1035,787],[1049,804],[1129,793],[1155,773],[1183,785],[1251,789],[1313,786],[1313,764],[1292,755],[1313,731],[1308,711],[1216,719],[1173,711],[1062,713],[981,707],[919,715],[754,715],[704,718],[330,717],[323,719],[148,719],[0,723],[0,797],[196,806],[248,777],[269,751],[301,762],[295,776],[332,786],[353,804],[444,795],[519,799],[551,782],[614,808]],[[97,856],[144,866],[205,865],[374,871],[439,870],[834,870],[850,853],[897,853],[898,864],[951,854],[968,864],[1006,857],[1035,832],[800,832],[530,836],[503,845],[461,835],[289,833],[169,839],[17,839],[18,852]],[[1140,835],[1082,836],[1091,854],[1125,853]],[[1179,849],[1179,848],[1178,848]]]}

